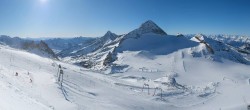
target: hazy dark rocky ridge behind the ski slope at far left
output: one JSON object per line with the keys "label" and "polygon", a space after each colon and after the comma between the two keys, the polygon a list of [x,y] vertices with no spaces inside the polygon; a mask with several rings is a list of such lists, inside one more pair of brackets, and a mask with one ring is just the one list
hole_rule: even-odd
{"label": "hazy dark rocky ridge behind the ski slope at far left", "polygon": [[0,44],[8,45],[16,49],[23,49],[43,57],[58,59],[57,55],[44,41],[35,42],[32,40],[21,39],[19,37],[11,38],[9,36],[1,35]]}

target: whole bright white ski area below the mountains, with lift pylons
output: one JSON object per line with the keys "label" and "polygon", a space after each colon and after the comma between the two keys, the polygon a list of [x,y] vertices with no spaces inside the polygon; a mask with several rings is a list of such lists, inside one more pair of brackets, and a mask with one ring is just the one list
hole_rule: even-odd
{"label": "whole bright white ski area below the mountains, with lift pylons", "polygon": [[[112,75],[0,48],[3,110],[246,110],[250,102],[249,66],[191,57],[189,52],[198,47],[169,55],[125,51],[116,63],[129,68]],[[62,87],[57,83],[58,64],[65,73]],[[153,87],[159,86],[153,81],[170,76],[185,89],[161,85],[163,97],[159,91],[153,96]],[[149,94],[147,89],[142,92],[144,83],[150,86]]]}

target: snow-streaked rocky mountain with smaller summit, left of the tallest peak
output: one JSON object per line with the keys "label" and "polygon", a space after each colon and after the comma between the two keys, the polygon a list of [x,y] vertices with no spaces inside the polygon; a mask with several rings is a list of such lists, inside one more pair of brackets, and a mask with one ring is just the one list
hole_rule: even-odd
{"label": "snow-streaked rocky mountain with smaller summit, left of the tallest peak", "polygon": [[102,65],[103,59],[120,42],[122,36],[108,31],[103,37],[96,38],[84,46],[63,50],[58,55],[62,60],[69,63],[79,64],[84,67],[90,65]]}

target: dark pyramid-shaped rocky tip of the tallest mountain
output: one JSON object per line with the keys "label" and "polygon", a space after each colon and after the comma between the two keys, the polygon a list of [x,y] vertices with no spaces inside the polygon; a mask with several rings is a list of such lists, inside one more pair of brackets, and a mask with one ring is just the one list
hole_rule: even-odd
{"label": "dark pyramid-shaped rocky tip of the tallest mountain", "polygon": [[148,20],[144,22],[140,28],[139,31],[141,31],[142,34],[144,33],[156,33],[161,35],[167,35],[166,32],[164,32],[157,24],[155,24],[152,20]]}

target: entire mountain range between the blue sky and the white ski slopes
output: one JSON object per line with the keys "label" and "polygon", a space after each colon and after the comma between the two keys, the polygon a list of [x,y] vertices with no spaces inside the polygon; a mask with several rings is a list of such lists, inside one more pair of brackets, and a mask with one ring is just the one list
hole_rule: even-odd
{"label": "entire mountain range between the blue sky and the white ski slopes", "polygon": [[1,36],[0,42],[13,48],[24,49],[39,55],[42,53],[52,58],[58,57],[62,61],[97,70],[117,66],[114,62],[117,61],[119,53],[126,51],[167,55],[189,49],[192,57],[204,57],[219,62],[222,59],[228,59],[249,64],[250,59],[249,37],[202,34],[168,35],[151,20],[124,35],[108,31],[98,38],[53,38],[40,42]]}

